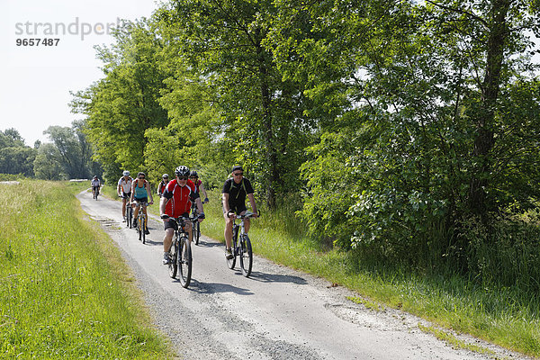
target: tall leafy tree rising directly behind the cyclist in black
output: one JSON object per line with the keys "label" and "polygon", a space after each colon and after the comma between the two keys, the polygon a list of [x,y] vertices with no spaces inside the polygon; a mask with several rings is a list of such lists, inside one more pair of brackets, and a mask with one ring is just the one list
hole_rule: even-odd
{"label": "tall leafy tree rising directly behind the cyclist in black", "polygon": [[216,137],[231,145],[234,162],[255,175],[267,203],[298,185],[302,148],[302,91],[282,79],[266,49],[270,1],[170,1],[157,19],[174,33],[186,66],[216,94],[223,124]]}

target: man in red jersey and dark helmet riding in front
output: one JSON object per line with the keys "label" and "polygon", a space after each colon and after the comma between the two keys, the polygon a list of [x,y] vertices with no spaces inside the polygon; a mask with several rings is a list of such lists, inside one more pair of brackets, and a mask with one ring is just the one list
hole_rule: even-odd
{"label": "man in red jersey and dark helmet riding in front", "polygon": [[[197,204],[199,210],[199,222],[204,219],[204,211],[202,210],[202,202],[199,193],[195,191],[195,184],[188,180],[189,168],[187,166],[178,166],[175,169],[175,180],[171,180],[166,184],[165,191],[159,202],[159,213],[163,219],[165,226],[165,238],[163,238],[163,265],[167,265],[170,261],[169,250],[171,248],[173,235],[178,225],[176,221],[167,219],[179,218],[181,216],[189,216],[192,202]],[[188,232],[188,239],[191,242],[192,228],[191,221],[185,222],[185,229]]]}

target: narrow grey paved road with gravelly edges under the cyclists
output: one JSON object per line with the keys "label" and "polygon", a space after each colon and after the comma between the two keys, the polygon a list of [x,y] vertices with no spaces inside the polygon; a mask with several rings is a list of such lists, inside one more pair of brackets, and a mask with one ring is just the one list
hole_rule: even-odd
{"label": "narrow grey paved road with gravelly edges under the cyclists", "polygon": [[[186,359],[491,358],[455,350],[423,333],[418,318],[365,309],[347,300],[354,293],[346,289],[260,257],[254,258],[253,274],[246,278],[238,266],[229,270],[223,246],[204,236],[193,246],[192,284],[184,289],[161,265],[161,220],[149,220],[151,234],[143,245],[121,223],[121,202],[104,197],[94,201],[86,192],[78,198],[121,247],[156,327]],[[204,222],[201,229],[203,233]]]}

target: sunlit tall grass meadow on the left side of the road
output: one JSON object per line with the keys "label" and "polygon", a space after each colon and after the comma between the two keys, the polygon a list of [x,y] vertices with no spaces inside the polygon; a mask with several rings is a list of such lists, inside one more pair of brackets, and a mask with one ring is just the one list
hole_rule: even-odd
{"label": "sunlit tall grass meadow on the left side of the road", "polygon": [[116,247],[83,220],[87,184],[0,184],[0,357],[172,357]]}

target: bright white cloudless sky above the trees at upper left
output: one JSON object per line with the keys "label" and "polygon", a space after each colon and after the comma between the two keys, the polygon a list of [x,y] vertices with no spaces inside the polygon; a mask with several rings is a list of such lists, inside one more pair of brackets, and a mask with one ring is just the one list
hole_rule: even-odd
{"label": "bright white cloudless sky above the trees at upper left", "polygon": [[[14,128],[33,146],[49,142],[49,126],[71,127],[82,115],[70,112],[69,92],[103,76],[94,45],[111,44],[119,19],[156,8],[155,0],[0,0],[0,130]],[[25,39],[40,45],[17,46]]]}

